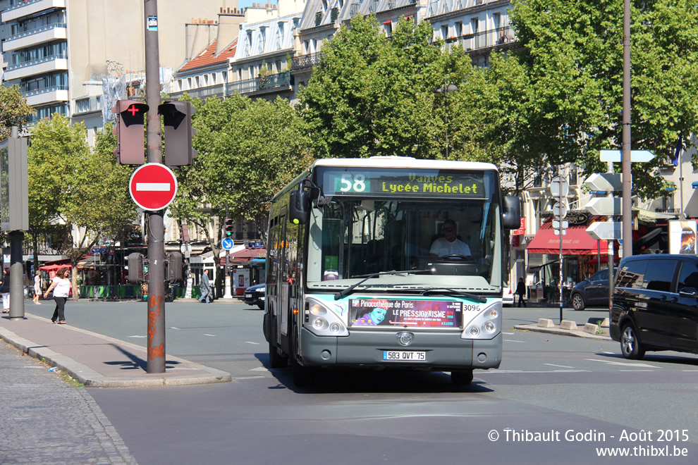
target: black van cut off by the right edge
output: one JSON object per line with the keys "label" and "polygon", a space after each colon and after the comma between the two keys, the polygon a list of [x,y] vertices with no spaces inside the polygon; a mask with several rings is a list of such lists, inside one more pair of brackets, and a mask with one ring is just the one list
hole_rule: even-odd
{"label": "black van cut off by the right edge", "polygon": [[620,261],[609,333],[626,359],[642,359],[647,350],[698,354],[698,256]]}

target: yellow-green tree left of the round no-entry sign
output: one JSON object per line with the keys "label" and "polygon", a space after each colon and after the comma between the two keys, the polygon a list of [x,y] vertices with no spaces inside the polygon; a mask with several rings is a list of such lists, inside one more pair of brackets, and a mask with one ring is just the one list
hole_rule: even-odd
{"label": "yellow-green tree left of the round no-entry sign", "polygon": [[36,125],[28,153],[30,233],[35,252],[38,235],[52,223],[64,223],[66,241],[54,245],[71,257],[73,286],[78,261],[94,244],[105,237],[118,237],[137,218],[128,195],[133,170],[116,163],[112,154],[116,140],[109,129],[97,135],[97,149],[92,151],[85,126],[71,126],[68,118],[56,113]]}

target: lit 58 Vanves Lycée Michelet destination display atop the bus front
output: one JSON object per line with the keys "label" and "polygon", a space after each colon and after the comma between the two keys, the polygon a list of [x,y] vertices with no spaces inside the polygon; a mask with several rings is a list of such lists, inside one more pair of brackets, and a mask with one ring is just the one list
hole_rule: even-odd
{"label": "lit 58 Vanves Lyc\u00e9e Michelet destination display atop the bus front", "polygon": [[443,171],[386,171],[372,168],[356,171],[324,171],[326,195],[398,195],[400,197],[486,197],[482,173]]}

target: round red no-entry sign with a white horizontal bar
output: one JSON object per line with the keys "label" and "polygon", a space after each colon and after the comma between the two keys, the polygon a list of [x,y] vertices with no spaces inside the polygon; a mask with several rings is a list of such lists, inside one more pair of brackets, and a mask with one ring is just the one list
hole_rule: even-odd
{"label": "round red no-entry sign with a white horizontal bar", "polygon": [[131,175],[128,192],[133,202],[144,210],[161,210],[172,203],[177,194],[177,178],[160,163],[146,163]]}

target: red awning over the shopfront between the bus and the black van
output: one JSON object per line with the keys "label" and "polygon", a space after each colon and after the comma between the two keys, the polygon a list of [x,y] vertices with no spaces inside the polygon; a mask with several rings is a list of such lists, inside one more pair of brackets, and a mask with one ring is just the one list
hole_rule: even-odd
{"label": "red awning over the shopfront between the bus and the black van", "polygon": [[533,240],[529,242],[526,250],[529,254],[558,255],[560,254],[560,237],[562,237],[563,255],[596,255],[597,242],[601,242],[601,254],[607,254],[606,241],[594,240],[587,233],[587,228],[587,225],[570,226],[567,228],[567,234],[558,236],[555,235],[551,222],[544,223]]}

